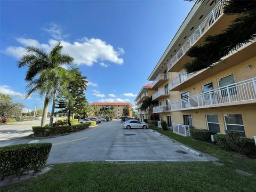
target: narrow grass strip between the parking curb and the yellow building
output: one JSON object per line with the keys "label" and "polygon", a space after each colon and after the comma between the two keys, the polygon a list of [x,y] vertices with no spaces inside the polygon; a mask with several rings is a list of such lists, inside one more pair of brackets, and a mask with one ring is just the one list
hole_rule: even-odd
{"label": "narrow grass strip between the parking curb and the yellow building", "polygon": [[244,155],[234,153],[232,151],[223,150],[220,148],[220,146],[214,145],[210,142],[199,141],[190,137],[183,137],[181,135],[173,133],[172,131],[163,131],[156,126],[150,126],[150,128],[158,131],[159,133],[167,135],[174,140],[184,143],[189,147],[219,158],[219,162],[224,163],[225,166],[229,167],[230,169],[240,169],[256,174],[256,159],[251,159]]}

